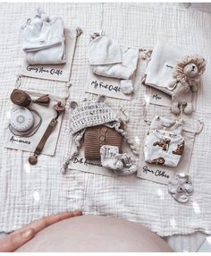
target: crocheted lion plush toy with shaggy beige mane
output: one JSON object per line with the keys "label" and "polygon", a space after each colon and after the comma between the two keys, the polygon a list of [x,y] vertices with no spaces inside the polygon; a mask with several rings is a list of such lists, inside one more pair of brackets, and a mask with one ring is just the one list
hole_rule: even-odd
{"label": "crocheted lion plush toy with shaggy beige mane", "polygon": [[180,113],[180,106],[184,107],[184,114],[192,113],[193,92],[198,90],[200,77],[205,72],[205,67],[205,59],[198,55],[187,56],[176,64],[173,70],[173,81],[169,84],[169,88],[173,90],[173,114]]}

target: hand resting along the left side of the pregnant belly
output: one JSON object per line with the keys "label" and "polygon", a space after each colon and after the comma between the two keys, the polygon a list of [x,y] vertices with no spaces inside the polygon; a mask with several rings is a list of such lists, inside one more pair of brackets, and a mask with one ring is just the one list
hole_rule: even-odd
{"label": "hand resting along the left side of the pregnant belly", "polygon": [[80,210],[75,210],[73,212],[67,212],[62,214],[57,214],[54,216],[41,218],[31,222],[29,225],[24,226],[21,229],[14,231],[11,235],[6,236],[0,240],[0,252],[14,252],[21,245],[30,241],[39,231],[43,230],[47,226],[55,224],[66,218],[72,218],[82,215]]}

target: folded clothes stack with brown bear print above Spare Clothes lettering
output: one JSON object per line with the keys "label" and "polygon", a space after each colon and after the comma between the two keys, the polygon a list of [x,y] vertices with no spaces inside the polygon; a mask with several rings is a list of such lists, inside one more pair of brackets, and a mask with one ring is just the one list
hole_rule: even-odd
{"label": "folded clothes stack with brown bear print above Spare Clothes lettering", "polygon": [[181,121],[156,116],[144,144],[145,161],[160,166],[177,166],[184,149],[181,132]]}

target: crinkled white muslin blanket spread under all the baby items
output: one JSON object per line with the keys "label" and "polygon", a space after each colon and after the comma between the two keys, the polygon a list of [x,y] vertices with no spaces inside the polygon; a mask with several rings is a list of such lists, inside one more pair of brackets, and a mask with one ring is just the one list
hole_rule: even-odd
{"label": "crinkled white muslin blanket spread under all the baby items", "polygon": [[[37,166],[27,164],[29,153],[0,149],[0,231],[9,232],[33,219],[72,209],[85,214],[116,216],[137,221],[158,235],[190,234],[211,230],[211,15],[163,4],[1,4],[0,8],[0,135],[4,138],[10,93],[15,74],[22,64],[20,27],[36,7],[63,17],[66,28],[80,26],[84,33],[76,47],[72,66],[71,98],[80,100],[88,76],[87,46],[92,31],[103,29],[110,38],[133,47],[153,47],[157,40],[190,47],[207,58],[207,72],[198,91],[194,117],[204,120],[196,138],[190,164],[195,192],[188,204],[181,205],[168,194],[165,185],[136,178],[93,175],[59,168],[70,151],[68,113],[64,115],[55,157],[40,156]],[[118,110],[127,108],[128,130],[143,142],[143,100],[146,88],[140,84],[144,64],[139,61],[136,92],[131,102],[108,99]],[[62,82],[25,78],[23,89],[42,90],[57,96],[65,94]],[[149,90],[149,89],[148,89]],[[170,115],[166,107],[155,108],[155,115]],[[150,110],[149,110],[150,111]]]}

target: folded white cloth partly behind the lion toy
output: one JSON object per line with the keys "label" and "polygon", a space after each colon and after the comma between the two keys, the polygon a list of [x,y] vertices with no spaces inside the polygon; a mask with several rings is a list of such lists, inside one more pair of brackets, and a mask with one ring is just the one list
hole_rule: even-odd
{"label": "folded white cloth partly behind the lion toy", "polygon": [[182,47],[157,43],[148,63],[145,84],[172,95],[173,89],[168,85],[173,80],[173,67],[187,55],[191,55],[190,52]]}

